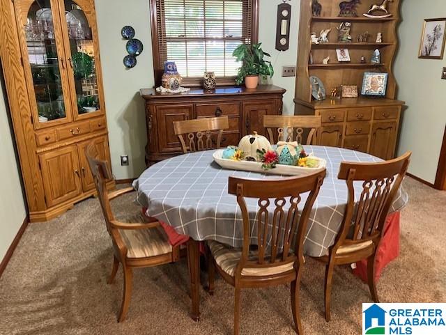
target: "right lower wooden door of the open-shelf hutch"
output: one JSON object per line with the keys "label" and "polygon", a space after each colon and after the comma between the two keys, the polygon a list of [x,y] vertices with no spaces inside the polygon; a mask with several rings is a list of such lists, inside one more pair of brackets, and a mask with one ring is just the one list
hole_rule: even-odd
{"label": "right lower wooden door of the open-shelf hutch", "polygon": [[392,159],[396,136],[396,122],[374,123],[371,127],[370,155],[383,159]]}

